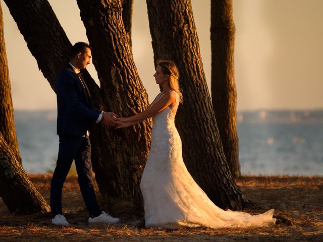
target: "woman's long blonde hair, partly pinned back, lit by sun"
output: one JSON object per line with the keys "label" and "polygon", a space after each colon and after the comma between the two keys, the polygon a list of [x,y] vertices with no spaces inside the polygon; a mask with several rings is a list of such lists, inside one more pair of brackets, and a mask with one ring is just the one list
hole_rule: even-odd
{"label": "woman's long blonde hair, partly pinned back, lit by sun", "polygon": [[169,62],[169,61],[158,61],[157,64],[161,67],[161,71],[165,74],[165,75],[169,75],[169,83],[170,83],[170,87],[172,90],[174,90],[175,92],[178,93],[178,95],[180,96],[180,102],[183,102],[183,95],[181,93],[180,90],[180,85],[178,82],[178,79],[180,78],[180,75],[178,73],[177,67],[173,62]]}

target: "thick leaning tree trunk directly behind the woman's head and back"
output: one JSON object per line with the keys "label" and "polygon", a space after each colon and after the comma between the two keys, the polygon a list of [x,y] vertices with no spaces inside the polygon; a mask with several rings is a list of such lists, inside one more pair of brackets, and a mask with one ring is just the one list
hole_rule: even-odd
{"label": "thick leaning tree trunk directly behind the woman's head and back", "polygon": [[206,85],[189,0],[147,0],[154,61],[173,61],[180,72],[184,104],[176,115],[189,172],[222,208],[250,205],[236,185],[223,152]]}

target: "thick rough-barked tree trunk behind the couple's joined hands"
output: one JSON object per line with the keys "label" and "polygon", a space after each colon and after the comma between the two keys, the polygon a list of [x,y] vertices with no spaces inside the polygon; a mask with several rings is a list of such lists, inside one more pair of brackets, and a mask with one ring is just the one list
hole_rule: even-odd
{"label": "thick rough-barked tree trunk behind the couple's joined hands", "polygon": [[[93,46],[93,62],[106,107],[124,116],[144,110],[148,97],[133,61],[121,2],[77,0],[77,3],[86,35]],[[96,172],[96,179],[104,185],[106,193],[121,195],[141,207],[139,183],[150,147],[150,120],[130,129],[105,133],[114,146],[102,149],[96,157],[105,164]],[[115,157],[115,160],[111,162],[109,157]],[[112,179],[107,180],[106,176]]]}

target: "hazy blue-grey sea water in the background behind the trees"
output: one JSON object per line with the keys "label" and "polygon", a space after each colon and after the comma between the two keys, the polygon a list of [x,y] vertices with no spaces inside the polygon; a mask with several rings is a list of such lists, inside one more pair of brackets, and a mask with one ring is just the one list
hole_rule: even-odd
{"label": "hazy blue-grey sea water in the background behind the trees", "polygon": [[[242,174],[323,175],[323,115],[289,110],[265,113],[238,113]],[[55,169],[59,147],[56,118],[56,110],[15,111],[19,149],[27,172]]]}

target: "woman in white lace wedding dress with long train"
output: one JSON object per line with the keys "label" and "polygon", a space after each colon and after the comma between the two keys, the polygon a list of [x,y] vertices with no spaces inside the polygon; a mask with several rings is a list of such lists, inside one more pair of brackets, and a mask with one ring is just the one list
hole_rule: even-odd
{"label": "woman in white lace wedding dress with long train", "polygon": [[118,118],[125,128],[149,117],[153,119],[151,149],[142,174],[145,226],[176,229],[185,227],[258,227],[275,224],[274,209],[263,214],[223,210],[195,183],[182,158],[182,142],[175,127],[175,114],[182,94],[178,71],[171,62],[159,63],[154,74],[163,91],[143,112]]}

